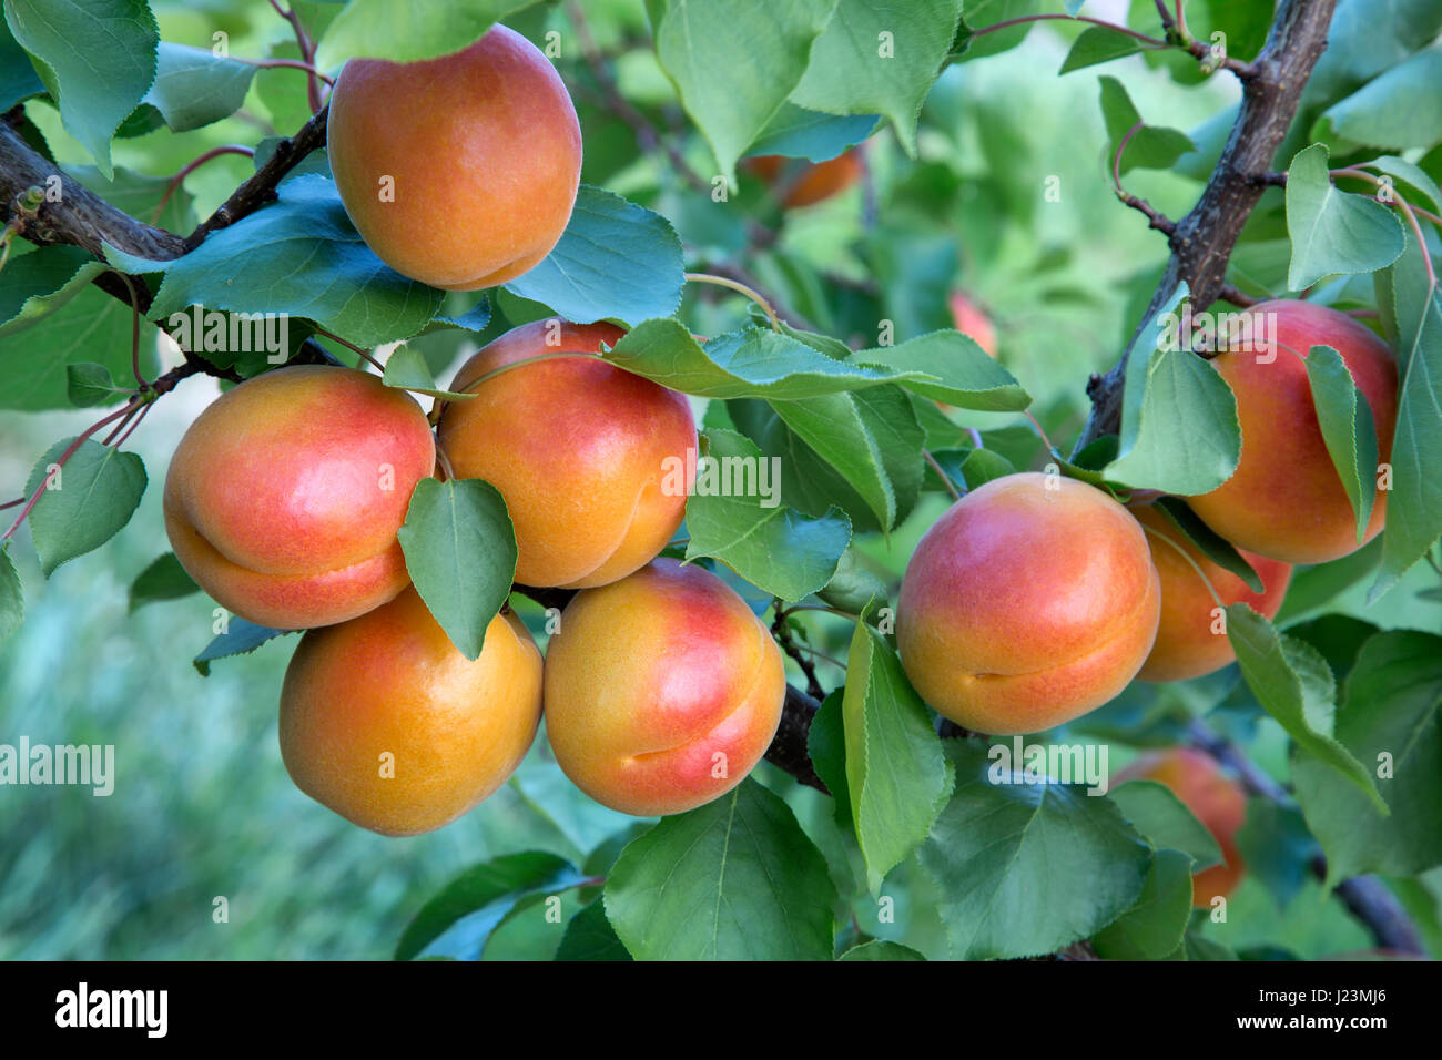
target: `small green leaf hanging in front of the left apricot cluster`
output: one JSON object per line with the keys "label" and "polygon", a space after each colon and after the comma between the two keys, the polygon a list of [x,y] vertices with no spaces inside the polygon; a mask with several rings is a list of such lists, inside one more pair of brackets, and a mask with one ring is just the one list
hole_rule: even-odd
{"label": "small green leaf hanging in front of the left apricot cluster", "polygon": [[398,536],[435,622],[461,655],[480,658],[516,577],[516,531],[500,490],[480,479],[421,479]]}

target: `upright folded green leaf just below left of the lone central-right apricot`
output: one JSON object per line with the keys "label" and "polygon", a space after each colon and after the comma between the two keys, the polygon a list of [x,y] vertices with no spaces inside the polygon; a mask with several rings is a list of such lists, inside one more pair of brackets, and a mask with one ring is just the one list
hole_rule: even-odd
{"label": "upright folded green leaf just below left of the lone central-right apricot", "polygon": [[842,699],[846,789],[875,894],[932,828],[952,793],[952,767],[926,704],[881,636],[857,623]]}

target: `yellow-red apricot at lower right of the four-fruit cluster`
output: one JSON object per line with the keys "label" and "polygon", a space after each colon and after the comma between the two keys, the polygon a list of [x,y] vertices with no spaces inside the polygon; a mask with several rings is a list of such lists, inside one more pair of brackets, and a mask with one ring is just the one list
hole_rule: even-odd
{"label": "yellow-red apricot at lower right of the four-fruit cluster", "polygon": [[784,699],[766,626],[721,578],[675,560],[578,593],[547,649],[557,763],[636,816],[684,813],[741,783]]}

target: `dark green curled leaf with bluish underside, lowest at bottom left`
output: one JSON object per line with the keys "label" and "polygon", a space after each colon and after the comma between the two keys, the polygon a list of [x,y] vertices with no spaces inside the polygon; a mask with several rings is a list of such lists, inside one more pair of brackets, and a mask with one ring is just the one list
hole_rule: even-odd
{"label": "dark green curled leaf with bluish underside, lowest at bottom left", "polygon": [[570,861],[541,851],[508,854],[467,868],[421,906],[397,943],[395,959],[443,955],[480,960],[490,933],[518,903],[564,891],[583,880]]}

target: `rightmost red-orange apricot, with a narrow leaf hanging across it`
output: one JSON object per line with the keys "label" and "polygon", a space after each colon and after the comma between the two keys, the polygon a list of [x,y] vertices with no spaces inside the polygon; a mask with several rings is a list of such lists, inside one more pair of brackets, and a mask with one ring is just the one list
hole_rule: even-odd
{"label": "rightmost red-orange apricot, with a narrow leaf hanging across it", "polygon": [[1373,332],[1325,306],[1263,301],[1247,314],[1266,314],[1266,343],[1213,361],[1237,397],[1242,460],[1221,486],[1191,498],[1191,508],[1227,541],[1259,555],[1306,564],[1337,560],[1381,532],[1387,493],[1377,492],[1358,542],[1357,518],[1317,421],[1305,359],[1312,346],[1343,356],[1371,410],[1381,463],[1392,459],[1397,421],[1396,359]]}

